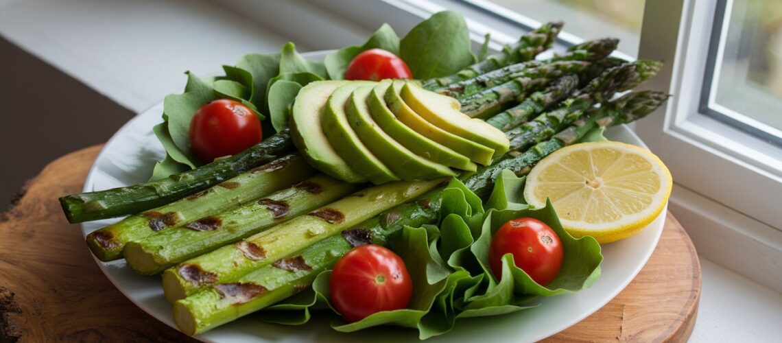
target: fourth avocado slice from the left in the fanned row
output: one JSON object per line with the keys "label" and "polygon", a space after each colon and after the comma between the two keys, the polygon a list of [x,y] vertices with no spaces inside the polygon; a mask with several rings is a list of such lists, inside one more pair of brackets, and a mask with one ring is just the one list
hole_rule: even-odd
{"label": "fourth avocado slice from the left in the fanned row", "polygon": [[372,119],[378,124],[378,127],[416,155],[445,166],[475,171],[477,166],[465,155],[461,155],[436,141],[425,138],[396,119],[396,116],[391,113],[391,110],[386,105],[386,100],[383,99],[386,91],[391,87],[391,82],[392,80],[381,81],[380,84],[372,89],[367,99],[369,112]]}

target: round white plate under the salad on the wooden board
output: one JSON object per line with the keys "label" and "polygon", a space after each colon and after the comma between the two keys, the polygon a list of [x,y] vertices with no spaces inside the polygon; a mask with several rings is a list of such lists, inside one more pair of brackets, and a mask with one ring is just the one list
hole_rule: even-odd
{"label": "round white plate under the salad on the wooden board", "polygon": [[[322,59],[326,52],[307,54],[310,59]],[[163,103],[148,109],[126,123],[106,143],[95,159],[84,191],[99,191],[144,182],[152,173],[155,162],[163,159],[163,146],[152,134],[152,127],[160,123]],[[623,141],[645,147],[630,129],[612,127],[606,131],[612,141]],[[648,227],[624,241],[603,246],[602,275],[591,288],[573,295],[543,298],[543,304],[504,316],[458,320],[454,330],[427,341],[537,341],[556,334],[578,323],[611,301],[622,291],[646,264],[662,233],[665,213]],[[97,220],[82,223],[86,236],[118,219]],[[176,330],[171,307],[163,298],[160,277],[143,277],[135,274],[124,260],[98,265],[127,298],[146,313]],[[203,341],[400,341],[418,340],[417,330],[397,327],[375,327],[352,334],[343,334],[328,326],[331,316],[315,313],[313,320],[304,326],[285,326],[264,323],[246,316],[233,323],[217,327],[199,335]]]}

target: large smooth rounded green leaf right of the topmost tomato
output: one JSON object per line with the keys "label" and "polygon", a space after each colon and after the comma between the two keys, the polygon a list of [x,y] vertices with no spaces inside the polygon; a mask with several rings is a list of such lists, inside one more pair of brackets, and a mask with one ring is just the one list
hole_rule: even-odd
{"label": "large smooth rounded green leaf right of the topmost tomato", "polygon": [[400,57],[413,77],[444,77],[475,63],[465,18],[454,11],[435,13],[402,38]]}

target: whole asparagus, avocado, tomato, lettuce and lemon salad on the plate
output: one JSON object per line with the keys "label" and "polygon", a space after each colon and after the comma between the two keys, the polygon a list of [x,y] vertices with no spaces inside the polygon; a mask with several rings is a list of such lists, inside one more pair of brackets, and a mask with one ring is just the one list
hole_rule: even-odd
{"label": "whole asparagus, avocado, tomato, lettuce and lemon salad on the plate", "polygon": [[161,275],[185,334],[332,316],[426,339],[545,306],[590,288],[601,245],[655,220],[672,184],[651,152],[604,137],[665,102],[633,91],[662,64],[611,56],[612,38],[540,57],[561,28],[488,55],[446,11],[322,63],[288,43],[187,73],[150,127],[165,158],[149,181],[67,195],[63,211],[124,216],[88,247]]}

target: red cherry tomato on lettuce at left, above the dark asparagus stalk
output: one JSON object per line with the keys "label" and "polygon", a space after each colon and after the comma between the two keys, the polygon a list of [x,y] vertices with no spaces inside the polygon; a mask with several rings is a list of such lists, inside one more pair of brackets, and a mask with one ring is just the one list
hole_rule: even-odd
{"label": "red cherry tomato on lettuce at left, above the dark asparagus stalk", "polygon": [[241,102],[215,100],[201,106],[190,120],[190,147],[204,162],[235,155],[260,138],[260,120]]}

